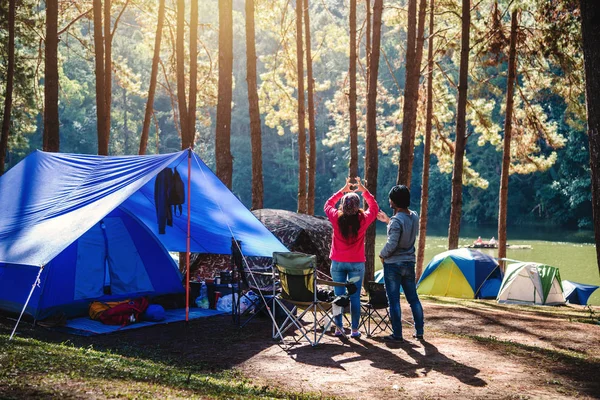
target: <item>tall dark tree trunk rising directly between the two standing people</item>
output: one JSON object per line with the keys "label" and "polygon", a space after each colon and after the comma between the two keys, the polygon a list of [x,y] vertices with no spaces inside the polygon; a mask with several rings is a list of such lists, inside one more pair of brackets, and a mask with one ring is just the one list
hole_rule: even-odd
{"label": "tall dark tree trunk rising directly between the two standing people", "polygon": [[[379,53],[381,46],[381,15],[383,0],[373,3],[373,53],[369,68],[369,90],[367,93],[367,138],[365,149],[365,171],[367,189],[377,196],[377,169],[379,154],[377,149],[377,75],[379,73]],[[365,281],[373,280],[375,274],[375,224],[367,229],[365,237]]]}

